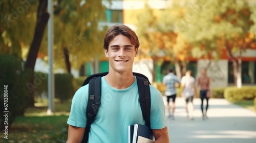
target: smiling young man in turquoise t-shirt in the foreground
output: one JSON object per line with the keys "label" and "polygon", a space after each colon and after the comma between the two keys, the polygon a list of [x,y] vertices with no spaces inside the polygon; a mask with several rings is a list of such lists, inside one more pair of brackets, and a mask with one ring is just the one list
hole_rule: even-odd
{"label": "smiling young man in turquoise t-shirt in the foreground", "polygon": [[[128,126],[144,125],[133,62],[138,55],[139,40],[127,26],[115,25],[104,37],[104,53],[109,58],[109,74],[101,78],[101,105],[91,125],[88,142],[127,142]],[[151,128],[155,142],[169,142],[161,93],[150,86]],[[87,124],[88,85],[73,97],[68,119],[67,142],[81,142]]]}

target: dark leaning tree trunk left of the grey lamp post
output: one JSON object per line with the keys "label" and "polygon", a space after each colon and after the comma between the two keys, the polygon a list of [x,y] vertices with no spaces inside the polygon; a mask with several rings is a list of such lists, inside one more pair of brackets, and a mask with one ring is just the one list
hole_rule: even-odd
{"label": "dark leaning tree trunk left of the grey lamp post", "polygon": [[[32,43],[30,45],[29,54],[27,57],[26,65],[25,65],[26,69],[32,70],[32,75],[30,76],[31,83],[34,82],[33,75],[34,75],[35,61],[36,61],[39,47],[40,47],[40,44],[42,41],[42,37],[44,35],[47,21],[49,19],[49,13],[46,11],[47,5],[48,5],[47,1],[40,0],[38,9],[37,9],[37,19],[36,19],[34,37],[33,37]],[[32,88],[31,101],[29,102],[29,106],[32,106],[32,107],[34,107],[34,93],[35,93],[34,88]]]}

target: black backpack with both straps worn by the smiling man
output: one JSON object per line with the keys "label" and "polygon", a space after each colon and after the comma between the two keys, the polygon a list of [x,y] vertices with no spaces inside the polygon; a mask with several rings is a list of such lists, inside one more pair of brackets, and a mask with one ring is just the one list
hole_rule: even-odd
{"label": "black backpack with both straps worn by the smiling man", "polygon": [[[86,130],[84,131],[82,142],[88,142],[90,127],[97,115],[100,106],[101,77],[107,74],[108,72],[91,75],[87,77],[82,84],[82,86],[84,86],[89,83],[89,96],[86,111],[87,125]],[[142,115],[145,120],[146,126],[150,127],[150,81],[148,81],[148,78],[142,74],[133,73],[133,75],[137,78],[139,102],[142,110]]]}

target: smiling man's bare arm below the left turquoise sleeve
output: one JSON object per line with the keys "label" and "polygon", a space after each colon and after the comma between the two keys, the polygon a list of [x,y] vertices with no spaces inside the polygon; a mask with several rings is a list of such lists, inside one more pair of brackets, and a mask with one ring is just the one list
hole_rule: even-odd
{"label": "smiling man's bare arm below the left turquoise sleeve", "polygon": [[82,141],[85,129],[86,128],[79,128],[79,127],[69,125],[67,143],[70,143],[70,142],[80,143]]}

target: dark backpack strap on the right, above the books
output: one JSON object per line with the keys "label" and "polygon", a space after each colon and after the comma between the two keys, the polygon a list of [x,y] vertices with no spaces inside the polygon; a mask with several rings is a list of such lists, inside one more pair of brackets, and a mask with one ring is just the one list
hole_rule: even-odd
{"label": "dark backpack strap on the right, above the books", "polygon": [[150,108],[151,108],[150,82],[139,76],[136,76],[136,78],[137,78],[139,102],[140,102],[142,115],[146,122],[146,126],[151,127],[150,126]]}

